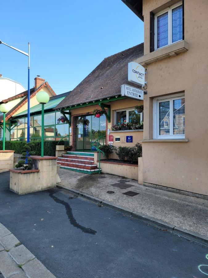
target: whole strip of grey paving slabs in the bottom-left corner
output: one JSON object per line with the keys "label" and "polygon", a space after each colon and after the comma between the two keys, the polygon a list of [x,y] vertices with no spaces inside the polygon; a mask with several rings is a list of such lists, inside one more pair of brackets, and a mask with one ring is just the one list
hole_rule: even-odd
{"label": "whole strip of grey paving slabs in the bottom-left corner", "polygon": [[14,234],[0,223],[0,273],[4,278],[56,278],[24,245],[15,246],[17,243]]}

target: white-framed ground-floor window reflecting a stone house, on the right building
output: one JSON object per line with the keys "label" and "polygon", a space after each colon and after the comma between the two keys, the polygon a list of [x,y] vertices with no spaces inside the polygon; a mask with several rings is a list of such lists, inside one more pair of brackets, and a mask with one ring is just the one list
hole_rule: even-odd
{"label": "white-framed ground-floor window reflecting a stone house, on the right building", "polygon": [[161,97],[153,100],[154,139],[185,138],[185,97]]}

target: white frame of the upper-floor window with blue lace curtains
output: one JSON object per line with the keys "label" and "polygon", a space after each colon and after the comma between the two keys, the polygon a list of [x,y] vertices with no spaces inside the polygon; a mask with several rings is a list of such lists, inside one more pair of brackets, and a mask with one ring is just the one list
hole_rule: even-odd
{"label": "white frame of the upper-floor window with blue lace curtains", "polygon": [[[183,5],[182,1],[174,4],[173,6],[168,7],[165,10],[162,10],[162,11],[158,12],[157,14],[155,14],[155,22],[154,22],[154,29],[155,29],[154,30],[155,50],[163,48],[163,47],[166,47],[166,46],[168,46],[170,44],[177,43],[178,41],[181,41],[181,40],[177,40],[177,41],[172,42],[172,10],[175,9],[176,7],[178,7],[178,6],[181,6],[181,5]],[[160,15],[165,14],[166,12],[168,12],[168,44],[166,44],[166,45],[164,45],[162,47],[157,48],[157,17],[160,16]]]}

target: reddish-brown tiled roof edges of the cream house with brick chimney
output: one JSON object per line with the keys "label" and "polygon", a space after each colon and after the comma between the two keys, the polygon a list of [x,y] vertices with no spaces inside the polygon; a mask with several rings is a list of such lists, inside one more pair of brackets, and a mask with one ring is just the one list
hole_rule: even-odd
{"label": "reddish-brown tiled roof edges of the cream house with brick chimney", "polygon": [[[35,88],[30,89],[30,99],[34,97],[45,86],[47,86],[47,88],[51,91],[53,95],[56,95],[56,93],[53,91],[48,82],[44,82],[41,86],[37,88],[36,91]],[[6,113],[6,121],[9,120],[25,103],[27,103],[27,91],[22,92],[21,94],[23,93],[25,94],[25,98],[23,98],[19,103],[12,107],[12,109],[9,112]],[[8,101],[10,101],[10,99],[8,99]],[[0,122],[3,122],[3,116],[0,116]]]}

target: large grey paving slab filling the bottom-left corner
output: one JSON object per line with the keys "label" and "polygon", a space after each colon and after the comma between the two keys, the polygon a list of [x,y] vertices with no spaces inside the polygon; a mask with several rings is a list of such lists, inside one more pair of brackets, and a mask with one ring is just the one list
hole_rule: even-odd
{"label": "large grey paving slab filling the bottom-left corner", "polygon": [[[14,274],[23,275],[22,269],[18,267],[18,265],[14,262],[14,260],[10,257],[9,253],[6,251],[0,252],[0,272],[2,272],[2,275],[4,277],[15,277]],[[25,276],[19,277],[22,278]]]}

